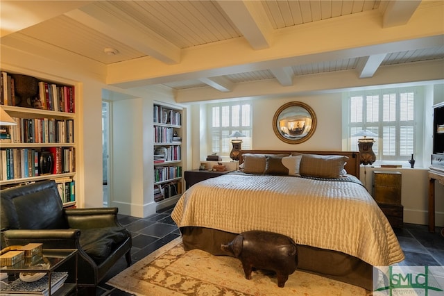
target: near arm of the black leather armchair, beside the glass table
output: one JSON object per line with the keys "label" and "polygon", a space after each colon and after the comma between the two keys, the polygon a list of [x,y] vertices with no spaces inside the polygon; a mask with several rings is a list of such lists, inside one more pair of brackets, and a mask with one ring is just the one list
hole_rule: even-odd
{"label": "near arm of the black leather armchair, beside the glass table", "polygon": [[80,247],[79,229],[10,229],[3,231],[2,234],[8,246],[40,242],[46,249],[78,249]]}

